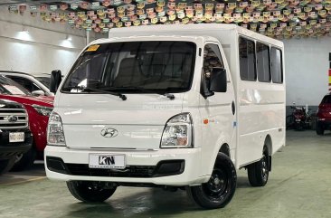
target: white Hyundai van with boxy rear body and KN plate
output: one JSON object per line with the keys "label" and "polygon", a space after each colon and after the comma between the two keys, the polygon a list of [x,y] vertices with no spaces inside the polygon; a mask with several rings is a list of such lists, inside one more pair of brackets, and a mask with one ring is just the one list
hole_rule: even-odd
{"label": "white Hyundai van with boxy rear body and KN plate", "polygon": [[225,206],[236,170],[266,185],[285,145],[283,57],[283,43],[233,24],[111,30],[80,53],[56,93],[47,176],[84,202],[146,185]]}

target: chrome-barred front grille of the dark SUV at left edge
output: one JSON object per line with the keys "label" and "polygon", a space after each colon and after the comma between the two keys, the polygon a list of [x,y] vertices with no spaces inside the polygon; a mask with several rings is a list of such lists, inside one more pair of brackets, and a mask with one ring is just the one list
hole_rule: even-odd
{"label": "chrome-barred front grille of the dark SUV at left edge", "polygon": [[0,109],[0,128],[26,128],[28,115],[25,109]]}

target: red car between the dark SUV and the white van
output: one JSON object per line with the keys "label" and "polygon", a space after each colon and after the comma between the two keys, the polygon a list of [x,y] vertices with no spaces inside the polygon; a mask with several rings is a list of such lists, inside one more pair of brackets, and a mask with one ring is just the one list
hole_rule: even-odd
{"label": "red car between the dark SUV and the white van", "polygon": [[29,115],[33,133],[33,147],[24,155],[17,156],[13,170],[23,170],[33,165],[37,155],[43,155],[46,147],[46,129],[53,108],[53,97],[36,97],[18,83],[0,75],[0,99],[13,100],[24,105]]}

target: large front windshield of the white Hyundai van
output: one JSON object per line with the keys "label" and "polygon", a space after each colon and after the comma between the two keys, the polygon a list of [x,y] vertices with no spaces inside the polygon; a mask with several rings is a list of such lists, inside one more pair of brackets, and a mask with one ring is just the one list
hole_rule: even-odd
{"label": "large front windshield of the white Hyundai van", "polygon": [[194,43],[177,41],[91,45],[80,55],[61,90],[186,91],[194,74],[195,47]]}

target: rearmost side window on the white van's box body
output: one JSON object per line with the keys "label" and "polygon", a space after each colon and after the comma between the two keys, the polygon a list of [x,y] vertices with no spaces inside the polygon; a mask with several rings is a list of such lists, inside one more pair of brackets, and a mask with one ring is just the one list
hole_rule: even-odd
{"label": "rearmost side window on the white van's box body", "polygon": [[271,47],[270,59],[272,81],[275,83],[283,83],[283,63],[281,51]]}

